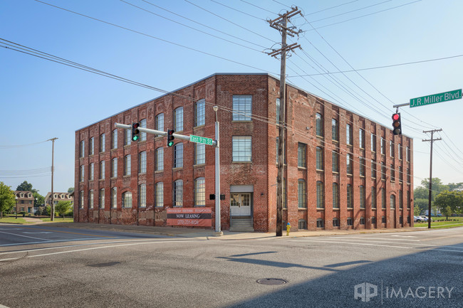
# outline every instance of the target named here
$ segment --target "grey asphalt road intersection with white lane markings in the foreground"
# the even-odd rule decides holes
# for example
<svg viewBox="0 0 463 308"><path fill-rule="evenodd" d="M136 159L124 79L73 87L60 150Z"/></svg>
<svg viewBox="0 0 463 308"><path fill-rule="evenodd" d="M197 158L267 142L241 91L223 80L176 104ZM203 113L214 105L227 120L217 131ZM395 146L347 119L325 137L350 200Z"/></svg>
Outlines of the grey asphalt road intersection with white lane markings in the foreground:
<svg viewBox="0 0 463 308"><path fill-rule="evenodd" d="M463 307L463 228L223 240L0 225L0 277L0 307Z"/></svg>

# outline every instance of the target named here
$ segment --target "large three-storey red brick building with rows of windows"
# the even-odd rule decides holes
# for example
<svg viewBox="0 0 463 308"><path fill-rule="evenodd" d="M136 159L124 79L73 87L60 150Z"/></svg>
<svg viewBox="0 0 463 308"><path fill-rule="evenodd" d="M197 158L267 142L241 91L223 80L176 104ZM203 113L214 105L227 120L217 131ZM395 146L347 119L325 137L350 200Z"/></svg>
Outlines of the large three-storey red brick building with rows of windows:
<svg viewBox="0 0 463 308"><path fill-rule="evenodd" d="M74 220L165 225L166 208L212 208L214 147L115 123L214 139L219 106L223 230L274 231L279 80L214 74L76 131ZM286 87L283 221L291 230L413 225L413 144L297 87ZM246 228L246 223L247 228ZM213 227L214 228L214 227Z"/></svg>

